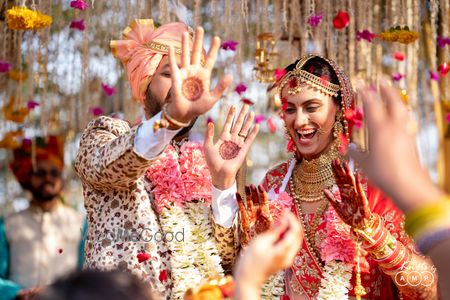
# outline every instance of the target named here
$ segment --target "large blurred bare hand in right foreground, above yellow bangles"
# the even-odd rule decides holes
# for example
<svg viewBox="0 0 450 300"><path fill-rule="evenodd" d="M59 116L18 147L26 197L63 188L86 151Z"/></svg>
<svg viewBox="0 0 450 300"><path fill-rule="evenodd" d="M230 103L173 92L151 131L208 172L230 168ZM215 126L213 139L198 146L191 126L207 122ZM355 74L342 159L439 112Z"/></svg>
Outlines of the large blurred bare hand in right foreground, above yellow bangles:
<svg viewBox="0 0 450 300"><path fill-rule="evenodd" d="M364 103L369 152L349 147L349 155L369 179L405 211L442 197L420 165L414 123L399 90L383 81L380 94L368 86L359 86L357 96Z"/></svg>

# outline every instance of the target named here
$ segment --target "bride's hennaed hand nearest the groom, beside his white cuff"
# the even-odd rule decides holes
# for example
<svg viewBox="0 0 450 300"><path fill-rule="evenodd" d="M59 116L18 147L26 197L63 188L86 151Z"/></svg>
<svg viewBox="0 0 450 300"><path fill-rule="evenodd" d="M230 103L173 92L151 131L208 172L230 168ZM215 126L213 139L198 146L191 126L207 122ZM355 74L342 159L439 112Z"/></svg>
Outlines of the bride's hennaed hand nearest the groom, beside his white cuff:
<svg viewBox="0 0 450 300"><path fill-rule="evenodd" d="M261 186L245 186L247 207L239 193L236 197L239 205L239 241L241 246L246 246L256 235L272 227L273 218L267 193Z"/></svg>

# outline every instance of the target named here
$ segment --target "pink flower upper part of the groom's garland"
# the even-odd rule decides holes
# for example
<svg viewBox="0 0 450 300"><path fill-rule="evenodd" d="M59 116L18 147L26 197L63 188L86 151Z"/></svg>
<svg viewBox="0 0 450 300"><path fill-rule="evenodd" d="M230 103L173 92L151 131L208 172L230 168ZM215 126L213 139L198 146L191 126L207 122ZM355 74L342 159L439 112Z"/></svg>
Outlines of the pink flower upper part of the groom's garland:
<svg viewBox="0 0 450 300"><path fill-rule="evenodd" d="M148 169L147 178L154 184L158 213L172 204L182 207L192 200L211 202L211 175L200 144L184 143L180 155L167 146Z"/></svg>

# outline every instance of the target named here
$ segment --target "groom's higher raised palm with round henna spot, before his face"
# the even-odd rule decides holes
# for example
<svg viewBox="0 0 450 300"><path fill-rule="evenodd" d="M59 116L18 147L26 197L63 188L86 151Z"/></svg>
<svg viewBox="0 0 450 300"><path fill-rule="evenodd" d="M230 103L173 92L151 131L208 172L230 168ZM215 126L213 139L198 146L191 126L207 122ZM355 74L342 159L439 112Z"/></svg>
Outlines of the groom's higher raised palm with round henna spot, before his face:
<svg viewBox="0 0 450 300"><path fill-rule="evenodd" d="M209 111L232 81L232 77L227 75L211 90L211 72L219 51L220 38L213 38L206 60L202 64L203 35L203 28L197 27L191 54L189 33L183 33L181 68L178 68L174 48L169 47L172 90L167 111L171 117L183 123L188 123Z"/></svg>

